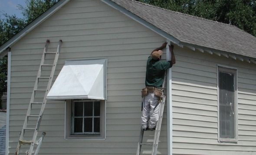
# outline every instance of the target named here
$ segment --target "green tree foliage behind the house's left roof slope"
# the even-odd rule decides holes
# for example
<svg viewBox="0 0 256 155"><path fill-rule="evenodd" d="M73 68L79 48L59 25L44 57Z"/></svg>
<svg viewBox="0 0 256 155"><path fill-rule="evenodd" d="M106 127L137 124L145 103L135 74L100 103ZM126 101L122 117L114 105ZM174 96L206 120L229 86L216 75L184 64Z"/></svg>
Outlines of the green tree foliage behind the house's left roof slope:
<svg viewBox="0 0 256 155"><path fill-rule="evenodd" d="M26 6L18 5L24 18L3 14L0 19L0 46L16 35L26 25L53 6L58 0L26 0ZM7 56L0 58L0 108L3 92L7 91Z"/></svg>

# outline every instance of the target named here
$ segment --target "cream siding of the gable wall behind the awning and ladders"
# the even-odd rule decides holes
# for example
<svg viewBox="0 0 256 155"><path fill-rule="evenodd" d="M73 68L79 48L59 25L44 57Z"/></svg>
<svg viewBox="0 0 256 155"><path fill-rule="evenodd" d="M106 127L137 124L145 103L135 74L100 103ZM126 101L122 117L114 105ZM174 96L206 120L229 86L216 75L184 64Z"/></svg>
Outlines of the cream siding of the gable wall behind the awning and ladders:
<svg viewBox="0 0 256 155"><path fill-rule="evenodd" d="M63 41L54 79L66 60L108 59L106 139L65 140L65 103L48 101L38 134L46 132L40 154L135 154L145 64L152 49L166 39L100 0L70 1L11 47L10 154L17 146L46 39L51 41L48 51L55 51L59 39ZM42 74L46 75L46 71ZM38 111L39 107L34 109ZM162 134L159 151L166 152L166 129ZM152 141L149 134L145 139Z"/></svg>

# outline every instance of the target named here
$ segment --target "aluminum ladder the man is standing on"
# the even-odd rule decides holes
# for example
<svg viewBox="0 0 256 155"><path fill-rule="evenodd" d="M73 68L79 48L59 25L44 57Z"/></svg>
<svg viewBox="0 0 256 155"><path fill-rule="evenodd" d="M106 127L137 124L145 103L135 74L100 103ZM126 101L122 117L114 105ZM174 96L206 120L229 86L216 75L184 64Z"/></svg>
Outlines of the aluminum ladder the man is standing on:
<svg viewBox="0 0 256 155"><path fill-rule="evenodd" d="M149 145L152 146L152 153L151 155L156 155L158 151L158 142L159 142L159 136L160 136L160 131L161 131L161 125L162 125L162 119L163 119L163 114L164 114L164 104L165 104L165 95L164 95L164 87L165 87L165 80L166 80L166 75L167 73L165 72L164 75L164 83L163 83L163 94L162 97L160 98L160 107L159 107L159 119L156 124L155 132L154 132L154 141L153 143L143 143L143 136L144 136L144 131L141 128L141 133L139 137L139 142L138 142L138 148L137 148L137 153L136 155L141 155L141 146L142 145Z"/></svg>

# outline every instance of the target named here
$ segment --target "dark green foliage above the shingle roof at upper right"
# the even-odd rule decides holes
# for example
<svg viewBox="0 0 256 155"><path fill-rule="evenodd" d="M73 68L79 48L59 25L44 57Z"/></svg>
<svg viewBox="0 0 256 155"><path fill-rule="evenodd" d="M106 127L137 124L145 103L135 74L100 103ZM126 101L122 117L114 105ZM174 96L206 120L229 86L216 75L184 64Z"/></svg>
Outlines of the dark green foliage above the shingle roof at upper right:
<svg viewBox="0 0 256 155"><path fill-rule="evenodd" d="M154 6L235 25L256 36L255 0L139 0Z"/></svg>

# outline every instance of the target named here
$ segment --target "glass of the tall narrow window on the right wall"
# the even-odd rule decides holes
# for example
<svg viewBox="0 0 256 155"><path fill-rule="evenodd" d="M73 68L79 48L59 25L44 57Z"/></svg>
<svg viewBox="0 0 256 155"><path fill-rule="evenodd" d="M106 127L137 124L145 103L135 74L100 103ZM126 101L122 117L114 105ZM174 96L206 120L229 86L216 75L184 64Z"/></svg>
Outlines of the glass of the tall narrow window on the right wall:
<svg viewBox="0 0 256 155"><path fill-rule="evenodd" d="M234 74L219 72L220 138L235 138Z"/></svg>

